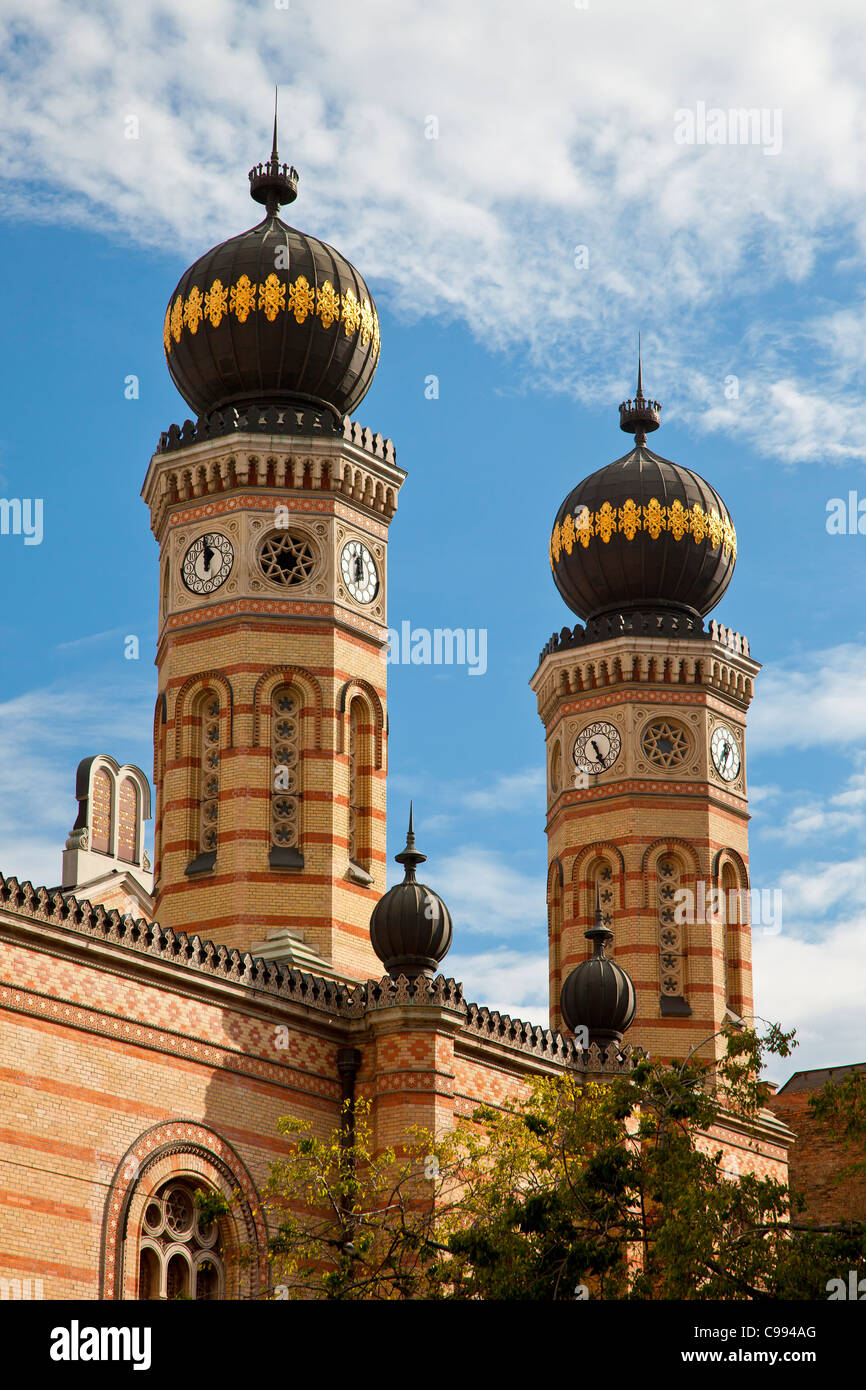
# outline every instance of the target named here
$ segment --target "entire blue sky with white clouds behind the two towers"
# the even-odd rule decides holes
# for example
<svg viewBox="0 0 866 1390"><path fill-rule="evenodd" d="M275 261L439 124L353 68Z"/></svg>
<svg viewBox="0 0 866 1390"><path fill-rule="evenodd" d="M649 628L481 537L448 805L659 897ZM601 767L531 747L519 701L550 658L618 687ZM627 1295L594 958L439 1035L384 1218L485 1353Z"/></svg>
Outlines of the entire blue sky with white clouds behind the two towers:
<svg viewBox="0 0 866 1390"><path fill-rule="evenodd" d="M716 616L765 664L752 876L783 890L784 916L755 937L758 1008L798 1027L796 1068L860 1061L866 535L826 520L828 499L866 499L865 46L855 4L801 0L669 0L652 22L595 0L6 0L0 495L42 498L44 535L0 537L0 867L57 881L82 756L150 771L157 567L139 489L188 413L163 316L190 260L257 220L246 171L279 82L291 220L359 265L382 321L357 418L409 473L389 620L488 632L484 676L389 669L389 853L414 796L455 917L445 967L545 1022L527 682L574 621L549 530L628 446L616 407L641 328L664 406L653 443L737 525ZM781 149L678 145L676 113L698 103L781 113Z"/></svg>

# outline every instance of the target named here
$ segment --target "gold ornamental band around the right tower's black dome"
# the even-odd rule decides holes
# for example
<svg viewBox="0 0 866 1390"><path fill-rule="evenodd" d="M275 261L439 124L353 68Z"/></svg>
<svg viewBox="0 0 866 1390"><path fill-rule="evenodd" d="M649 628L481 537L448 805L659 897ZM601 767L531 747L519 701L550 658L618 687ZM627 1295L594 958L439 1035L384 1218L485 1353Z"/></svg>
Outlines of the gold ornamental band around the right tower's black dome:
<svg viewBox="0 0 866 1390"><path fill-rule="evenodd" d="M657 541L662 531L669 531L674 541L691 535L695 545L706 541L710 549L719 546L726 555L737 559L737 532L730 517L720 517L716 509L705 512L695 502L691 507L684 507L681 502L671 502L662 506L656 498L651 498L645 506L628 498L621 507L613 507L609 502L602 502L598 512L589 507L580 507L577 516L569 513L553 527L550 537L550 569L559 560L562 552L571 555L575 545L584 549L594 535L607 543L610 537L619 531L627 541L634 541L638 531L646 531L653 541Z"/></svg>

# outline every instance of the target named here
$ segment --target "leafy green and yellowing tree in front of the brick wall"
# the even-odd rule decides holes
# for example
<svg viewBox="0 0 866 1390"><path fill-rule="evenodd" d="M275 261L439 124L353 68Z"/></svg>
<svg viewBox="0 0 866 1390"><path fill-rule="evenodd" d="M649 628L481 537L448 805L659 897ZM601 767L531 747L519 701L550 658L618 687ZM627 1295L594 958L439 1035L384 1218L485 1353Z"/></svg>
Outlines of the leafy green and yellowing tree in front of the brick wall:
<svg viewBox="0 0 866 1390"><path fill-rule="evenodd" d="M709 1040L708 1040L709 1041ZM724 1170L709 1131L767 1098L766 1054L792 1034L727 1037L720 1062L638 1059L587 1084L537 1080L445 1138L375 1154L368 1106L295 1138L267 1205L274 1282L327 1298L816 1298L866 1257L866 1229L795 1230L785 1184Z"/></svg>

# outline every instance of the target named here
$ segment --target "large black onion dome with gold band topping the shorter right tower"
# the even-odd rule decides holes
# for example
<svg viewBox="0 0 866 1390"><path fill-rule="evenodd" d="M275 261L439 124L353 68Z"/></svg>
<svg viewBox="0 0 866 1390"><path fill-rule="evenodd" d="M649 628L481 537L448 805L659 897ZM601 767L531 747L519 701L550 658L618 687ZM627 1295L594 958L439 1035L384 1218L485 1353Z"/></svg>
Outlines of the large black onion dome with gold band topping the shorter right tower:
<svg viewBox="0 0 866 1390"><path fill-rule="evenodd" d="M620 406L634 449L578 482L556 514L553 580L584 620L635 609L703 617L731 582L731 514L702 477L646 448L660 416L638 359L637 396Z"/></svg>

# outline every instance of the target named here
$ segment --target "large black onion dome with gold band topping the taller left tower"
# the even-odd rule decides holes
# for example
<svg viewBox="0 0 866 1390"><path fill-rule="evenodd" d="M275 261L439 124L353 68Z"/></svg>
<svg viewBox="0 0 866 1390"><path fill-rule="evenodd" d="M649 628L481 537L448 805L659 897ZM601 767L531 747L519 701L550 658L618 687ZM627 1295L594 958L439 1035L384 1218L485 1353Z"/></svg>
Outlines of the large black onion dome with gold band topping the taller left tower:
<svg viewBox="0 0 866 1390"><path fill-rule="evenodd" d="M271 158L249 177L263 221L202 256L168 302L171 379L197 416L327 406L342 418L375 373L373 296L345 256L278 215L297 196L297 170L279 163L275 117Z"/></svg>

